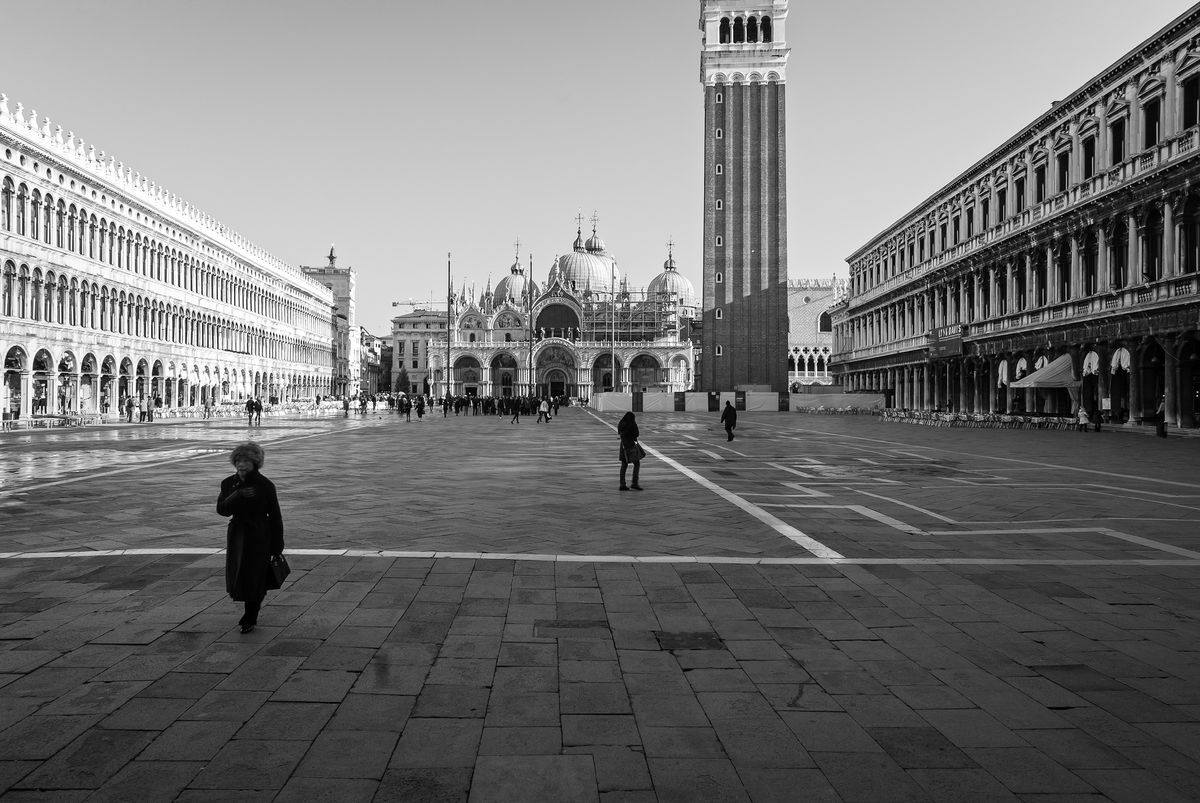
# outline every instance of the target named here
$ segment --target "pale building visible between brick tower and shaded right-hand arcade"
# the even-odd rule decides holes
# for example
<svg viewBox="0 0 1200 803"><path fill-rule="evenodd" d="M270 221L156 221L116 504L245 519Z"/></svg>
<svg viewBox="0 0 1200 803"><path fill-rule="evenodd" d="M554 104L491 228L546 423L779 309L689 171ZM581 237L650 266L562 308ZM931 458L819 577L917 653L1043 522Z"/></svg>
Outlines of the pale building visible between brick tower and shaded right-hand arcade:
<svg viewBox="0 0 1200 803"><path fill-rule="evenodd" d="M833 384L833 317L846 295L845 280L798 278L787 283L787 385Z"/></svg>

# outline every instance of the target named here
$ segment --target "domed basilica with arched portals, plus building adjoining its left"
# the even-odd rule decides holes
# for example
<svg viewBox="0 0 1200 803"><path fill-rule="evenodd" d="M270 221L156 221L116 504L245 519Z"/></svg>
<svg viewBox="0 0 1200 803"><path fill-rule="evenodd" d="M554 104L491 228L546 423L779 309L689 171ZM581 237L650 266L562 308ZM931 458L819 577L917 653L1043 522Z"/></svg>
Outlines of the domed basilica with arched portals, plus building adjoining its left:
<svg viewBox="0 0 1200 803"><path fill-rule="evenodd" d="M392 320L396 359L409 360L419 391L590 397L692 389L695 290L671 253L644 289L634 289L595 230L584 241L580 229L544 286L526 276L517 254L494 288L488 281L478 295L460 288L451 298L449 343L436 334L445 312Z"/></svg>

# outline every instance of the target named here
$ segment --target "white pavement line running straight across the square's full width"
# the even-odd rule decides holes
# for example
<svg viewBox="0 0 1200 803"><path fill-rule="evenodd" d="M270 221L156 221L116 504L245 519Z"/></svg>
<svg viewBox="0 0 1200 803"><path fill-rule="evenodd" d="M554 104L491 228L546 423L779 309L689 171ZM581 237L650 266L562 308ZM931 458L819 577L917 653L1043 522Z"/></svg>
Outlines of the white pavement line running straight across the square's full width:
<svg viewBox="0 0 1200 803"><path fill-rule="evenodd" d="M1099 532L1099 531L1090 531ZM1124 535L1123 533L1121 535ZM194 555L197 557L222 555L215 549L164 549L164 550L89 550L64 552L0 552L0 561L32 561L46 558L109 558L138 556ZM1181 550L1180 552L1187 552ZM398 550L288 550L287 555L331 558L410 558L422 561L527 561L541 563L656 563L656 564L740 564L740 565L995 565L995 567L1195 567L1200 559L1154 558L752 558L737 556L676 556L676 555L546 555L520 552L407 552ZM1196 558L1200 553L1192 552Z"/></svg>

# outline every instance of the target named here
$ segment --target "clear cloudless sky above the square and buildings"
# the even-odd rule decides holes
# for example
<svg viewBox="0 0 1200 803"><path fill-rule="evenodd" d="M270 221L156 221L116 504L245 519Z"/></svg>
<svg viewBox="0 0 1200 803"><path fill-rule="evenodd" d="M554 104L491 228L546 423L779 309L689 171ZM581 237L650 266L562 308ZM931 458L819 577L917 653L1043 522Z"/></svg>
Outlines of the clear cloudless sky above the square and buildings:
<svg viewBox="0 0 1200 803"><path fill-rule="evenodd" d="M792 0L788 275L845 258L1171 19L1182 0ZM358 271L390 331L534 278L598 212L644 286L700 289L698 0L6 2L0 92L293 265ZM584 228L590 228L586 222Z"/></svg>

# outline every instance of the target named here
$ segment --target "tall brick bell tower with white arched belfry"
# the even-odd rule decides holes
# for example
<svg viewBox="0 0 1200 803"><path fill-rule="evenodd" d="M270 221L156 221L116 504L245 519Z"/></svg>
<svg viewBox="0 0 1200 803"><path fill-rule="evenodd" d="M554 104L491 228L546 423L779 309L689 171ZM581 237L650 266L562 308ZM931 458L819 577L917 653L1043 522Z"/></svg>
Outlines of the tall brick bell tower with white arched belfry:
<svg viewBox="0 0 1200 803"><path fill-rule="evenodd" d="M701 0L704 390L787 390L787 0Z"/></svg>

